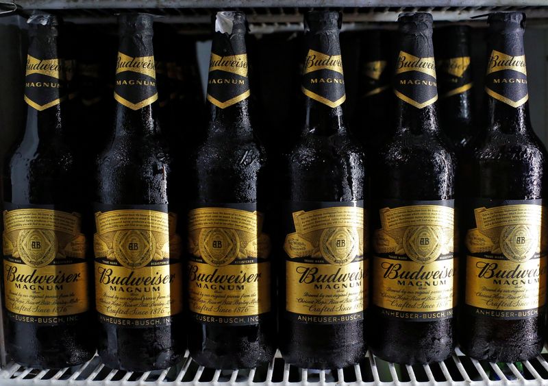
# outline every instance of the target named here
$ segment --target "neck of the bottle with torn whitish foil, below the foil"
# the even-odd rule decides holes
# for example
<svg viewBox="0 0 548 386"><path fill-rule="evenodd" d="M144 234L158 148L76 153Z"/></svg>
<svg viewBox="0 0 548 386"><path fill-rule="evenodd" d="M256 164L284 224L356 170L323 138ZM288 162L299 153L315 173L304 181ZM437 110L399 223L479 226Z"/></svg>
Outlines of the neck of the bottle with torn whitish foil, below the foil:
<svg viewBox="0 0 548 386"><path fill-rule="evenodd" d="M208 76L208 134L253 134L245 33L215 32Z"/></svg>

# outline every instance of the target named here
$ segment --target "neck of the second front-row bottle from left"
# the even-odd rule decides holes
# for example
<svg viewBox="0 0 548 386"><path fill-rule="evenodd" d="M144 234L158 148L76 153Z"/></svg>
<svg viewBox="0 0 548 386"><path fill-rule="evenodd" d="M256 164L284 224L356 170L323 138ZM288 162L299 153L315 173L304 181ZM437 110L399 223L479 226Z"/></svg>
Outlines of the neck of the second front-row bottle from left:
<svg viewBox="0 0 548 386"><path fill-rule="evenodd" d="M151 32L121 34L114 84L115 136L147 136L160 131L158 89Z"/></svg>

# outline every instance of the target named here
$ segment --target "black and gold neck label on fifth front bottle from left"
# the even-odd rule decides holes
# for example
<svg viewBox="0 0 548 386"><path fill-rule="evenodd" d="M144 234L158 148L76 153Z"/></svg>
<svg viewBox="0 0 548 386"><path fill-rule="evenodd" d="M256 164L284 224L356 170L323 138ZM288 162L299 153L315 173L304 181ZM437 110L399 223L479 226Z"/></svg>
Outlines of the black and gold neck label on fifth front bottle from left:
<svg viewBox="0 0 548 386"><path fill-rule="evenodd" d="M416 108L425 108L438 100L434 57L422 58L399 51L394 77L394 93Z"/></svg>

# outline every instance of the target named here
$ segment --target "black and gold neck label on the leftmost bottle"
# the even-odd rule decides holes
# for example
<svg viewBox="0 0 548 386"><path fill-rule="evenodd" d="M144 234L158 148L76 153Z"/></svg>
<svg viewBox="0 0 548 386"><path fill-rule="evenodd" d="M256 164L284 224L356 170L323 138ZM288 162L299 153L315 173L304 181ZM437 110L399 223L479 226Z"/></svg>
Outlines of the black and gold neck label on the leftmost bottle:
<svg viewBox="0 0 548 386"><path fill-rule="evenodd" d="M66 98L63 62L59 58L44 58L40 52L27 55L25 73L25 102L38 111L60 104Z"/></svg>

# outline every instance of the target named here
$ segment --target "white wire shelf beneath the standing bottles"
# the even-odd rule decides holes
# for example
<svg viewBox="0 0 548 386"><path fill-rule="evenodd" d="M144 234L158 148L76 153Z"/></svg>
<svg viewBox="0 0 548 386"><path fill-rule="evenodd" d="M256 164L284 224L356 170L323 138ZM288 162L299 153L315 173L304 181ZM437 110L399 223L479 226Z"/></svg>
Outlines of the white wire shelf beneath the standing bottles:
<svg viewBox="0 0 548 386"><path fill-rule="evenodd" d="M544 352L547 352L546 350ZM496 364L465 357L457 350L446 361L431 365L397 365L371 356L362 363L336 370L304 370L284 363L279 352L269 365L249 370L212 370L197 365L186 354L179 365L156 372L112 370L99 357L79 367L36 370L16 363L0 372L0 385L183 385L183 386L366 386L366 385L548 385L547 354L532 361Z"/></svg>

